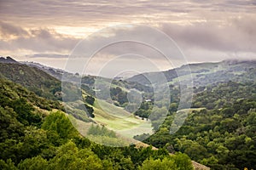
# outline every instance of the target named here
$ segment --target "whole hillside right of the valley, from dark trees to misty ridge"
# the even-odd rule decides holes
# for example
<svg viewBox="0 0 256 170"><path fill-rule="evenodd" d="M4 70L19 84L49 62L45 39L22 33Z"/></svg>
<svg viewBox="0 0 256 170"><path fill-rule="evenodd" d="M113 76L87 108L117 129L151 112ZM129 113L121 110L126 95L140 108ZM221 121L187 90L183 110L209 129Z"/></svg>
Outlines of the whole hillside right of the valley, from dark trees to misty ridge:
<svg viewBox="0 0 256 170"><path fill-rule="evenodd" d="M175 70L162 72L167 75L172 94L169 116L156 133L143 141L166 147L172 153L182 151L211 169L255 169L256 61L226 60L189 66L194 96L183 126L177 133L170 134L171 125L174 123L175 127L179 120L174 122L174 118L183 111L177 111L177 107L179 81L185 81L188 75L185 66L177 68L180 77ZM160 86L159 74L146 73L156 87ZM143 75L127 79L148 84L145 80ZM145 118L148 113L150 107L145 106L136 112ZM141 139L141 136L136 136L136 139Z"/></svg>

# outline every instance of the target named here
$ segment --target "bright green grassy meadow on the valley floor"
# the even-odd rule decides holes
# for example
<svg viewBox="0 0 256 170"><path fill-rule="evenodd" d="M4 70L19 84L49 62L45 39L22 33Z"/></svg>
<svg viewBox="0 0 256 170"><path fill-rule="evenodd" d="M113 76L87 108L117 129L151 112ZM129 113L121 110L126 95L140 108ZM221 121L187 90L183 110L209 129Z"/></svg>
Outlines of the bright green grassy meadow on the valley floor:
<svg viewBox="0 0 256 170"><path fill-rule="evenodd" d="M102 109L103 108L103 109ZM95 118L92 120L98 125L107 127L109 130L113 130L118 135L118 139L122 140L121 145L136 144L137 140L133 139L133 136L143 133L152 133L151 122L147 122L140 118L137 118L123 108L109 104L104 100L96 99L93 105ZM83 122L69 116L73 126L76 127L83 136L90 137L87 132L93 122ZM93 141L100 144L116 144L114 141L117 139L98 139L98 137L91 137ZM108 141L109 140L109 141Z"/></svg>

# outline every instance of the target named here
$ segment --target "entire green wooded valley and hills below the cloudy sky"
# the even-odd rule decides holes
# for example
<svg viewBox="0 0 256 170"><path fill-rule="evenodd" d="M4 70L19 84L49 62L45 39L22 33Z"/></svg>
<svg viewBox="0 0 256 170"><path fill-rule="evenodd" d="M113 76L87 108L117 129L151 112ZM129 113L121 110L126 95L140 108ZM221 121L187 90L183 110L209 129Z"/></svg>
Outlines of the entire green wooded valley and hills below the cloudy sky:
<svg viewBox="0 0 256 170"><path fill-rule="evenodd" d="M161 84L157 80L148 84L142 75L112 81L68 73L73 81L61 91L63 72L55 78L42 69L8 60L0 63L0 169L193 169L190 159L211 169L256 169L255 61L190 65L194 86L189 108L179 108L181 88L187 88L180 87L179 81L185 81L189 72L183 66L177 68L183 71L181 77L175 70L165 71L171 92L166 110L165 99L154 99L154 88ZM160 73L147 74L158 77ZM102 89L110 88L109 94L96 95L101 91L96 81ZM81 99L73 95L78 91ZM131 103L132 93L142 100ZM63 102L63 96L70 99ZM156 119L150 117L154 105ZM157 115L164 111L168 115L160 123ZM174 118L184 111L189 115L183 126L171 134ZM119 146L122 141L116 132L138 133L133 127L148 119L154 134L133 138L160 150L96 144ZM76 123L79 128L74 127Z"/></svg>

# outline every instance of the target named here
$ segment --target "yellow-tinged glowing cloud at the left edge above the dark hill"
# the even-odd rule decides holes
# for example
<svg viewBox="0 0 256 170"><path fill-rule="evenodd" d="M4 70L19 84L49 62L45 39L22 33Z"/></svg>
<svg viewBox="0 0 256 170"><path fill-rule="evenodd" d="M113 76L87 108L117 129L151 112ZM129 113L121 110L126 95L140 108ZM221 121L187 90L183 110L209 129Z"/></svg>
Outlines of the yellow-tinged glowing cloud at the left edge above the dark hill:
<svg viewBox="0 0 256 170"><path fill-rule="evenodd" d="M74 37L63 36L55 30L49 28L38 28L24 30L20 26L14 26L7 23L1 23L1 35L3 35L0 44L2 50L15 51L30 50L35 53L45 52L69 52L79 42ZM8 39L8 37L15 36Z"/></svg>

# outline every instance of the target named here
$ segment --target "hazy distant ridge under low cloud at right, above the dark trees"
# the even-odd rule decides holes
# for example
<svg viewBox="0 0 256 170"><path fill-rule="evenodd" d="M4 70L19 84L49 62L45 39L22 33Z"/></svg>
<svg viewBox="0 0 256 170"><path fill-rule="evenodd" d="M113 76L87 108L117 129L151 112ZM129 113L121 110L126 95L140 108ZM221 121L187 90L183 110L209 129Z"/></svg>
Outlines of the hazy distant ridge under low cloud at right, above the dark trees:
<svg viewBox="0 0 256 170"><path fill-rule="evenodd" d="M189 67L183 65L169 71L143 73L130 77L127 81L150 84L146 79L148 77L152 82L157 83L160 82L158 80L159 75L164 74L167 82L174 83L183 80L183 78L191 74L194 86L199 87L218 82L242 81L241 75L255 67L256 60L224 60L218 63L189 64ZM179 77L177 77L177 72Z"/></svg>

